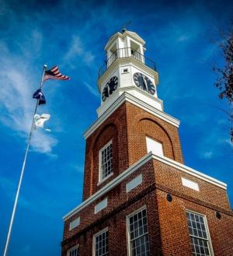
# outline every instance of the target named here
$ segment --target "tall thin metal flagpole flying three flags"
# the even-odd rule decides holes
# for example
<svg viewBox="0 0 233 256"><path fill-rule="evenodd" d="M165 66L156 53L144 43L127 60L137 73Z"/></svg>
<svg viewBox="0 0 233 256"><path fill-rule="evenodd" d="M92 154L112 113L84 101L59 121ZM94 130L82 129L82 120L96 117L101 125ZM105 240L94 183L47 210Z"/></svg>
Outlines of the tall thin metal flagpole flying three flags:
<svg viewBox="0 0 233 256"><path fill-rule="evenodd" d="M43 86L43 76L44 76L44 72L46 71L46 68L47 68L47 65L43 65L43 75L42 75L42 79L41 79L41 82L40 82L40 89ZM13 207L13 211L12 211L12 218L11 218L11 221L10 221L10 224L9 224L9 231L8 231L8 234L7 234L7 239L6 239L6 243L5 243L5 250L4 250L3 256L6 256L7 251L8 251L8 247L9 247L9 240L10 240L10 237L11 237L12 225L13 225L15 214L16 214L16 207L17 207L17 204L18 204L19 191L20 191L20 188L21 188L22 180L23 180L23 173L24 173L24 169L25 169L26 158L27 158L27 154L28 154L28 151L29 151L29 148L30 148L30 142L31 142L32 134L33 134L34 116L35 116L35 114L37 114L38 104L39 104L39 99L37 99L37 104L36 104L35 111L34 111L34 114L33 114L33 122L32 122L30 135L28 137L28 142L27 142L27 146L26 146L26 153L25 153L24 160L23 160L23 167L22 167L21 174L20 174L20 177L19 177L19 184L18 184L18 188L17 188L17 192L16 192L16 199L15 199L15 202L14 202L14 207Z"/></svg>

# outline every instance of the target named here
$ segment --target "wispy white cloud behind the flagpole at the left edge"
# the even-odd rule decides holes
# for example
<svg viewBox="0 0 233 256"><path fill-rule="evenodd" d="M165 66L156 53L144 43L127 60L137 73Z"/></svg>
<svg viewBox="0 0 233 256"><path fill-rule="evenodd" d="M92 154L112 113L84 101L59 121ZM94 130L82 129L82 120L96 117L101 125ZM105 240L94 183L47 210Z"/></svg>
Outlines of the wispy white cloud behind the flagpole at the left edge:
<svg viewBox="0 0 233 256"><path fill-rule="evenodd" d="M38 36L38 34L36 35ZM30 131L35 100L32 99L32 84L35 77L31 75L29 65L16 56L9 54L8 47L2 43L2 58L0 60L0 121L8 128L26 138ZM33 137L33 149L40 153L51 153L57 144L57 139L51 135L37 132Z"/></svg>

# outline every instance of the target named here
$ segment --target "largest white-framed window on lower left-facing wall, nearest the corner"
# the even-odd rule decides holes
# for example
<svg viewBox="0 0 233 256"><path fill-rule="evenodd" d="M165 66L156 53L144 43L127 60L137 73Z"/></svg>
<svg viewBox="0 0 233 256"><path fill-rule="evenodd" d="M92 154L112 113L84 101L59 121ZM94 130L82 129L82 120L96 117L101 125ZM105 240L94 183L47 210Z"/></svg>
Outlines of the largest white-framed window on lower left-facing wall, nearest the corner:
<svg viewBox="0 0 233 256"><path fill-rule="evenodd" d="M148 219L145 208L127 216L127 234L130 256L148 256Z"/></svg>

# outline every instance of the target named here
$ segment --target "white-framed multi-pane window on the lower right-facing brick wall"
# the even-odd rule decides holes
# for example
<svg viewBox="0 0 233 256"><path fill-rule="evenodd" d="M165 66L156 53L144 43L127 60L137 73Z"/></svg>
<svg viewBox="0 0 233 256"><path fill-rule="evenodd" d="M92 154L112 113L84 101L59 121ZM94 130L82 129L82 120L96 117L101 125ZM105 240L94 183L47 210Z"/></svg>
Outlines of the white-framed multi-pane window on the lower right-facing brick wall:
<svg viewBox="0 0 233 256"><path fill-rule="evenodd" d="M193 256L213 255L205 216L196 212L186 212L186 218L190 232L190 244Z"/></svg>

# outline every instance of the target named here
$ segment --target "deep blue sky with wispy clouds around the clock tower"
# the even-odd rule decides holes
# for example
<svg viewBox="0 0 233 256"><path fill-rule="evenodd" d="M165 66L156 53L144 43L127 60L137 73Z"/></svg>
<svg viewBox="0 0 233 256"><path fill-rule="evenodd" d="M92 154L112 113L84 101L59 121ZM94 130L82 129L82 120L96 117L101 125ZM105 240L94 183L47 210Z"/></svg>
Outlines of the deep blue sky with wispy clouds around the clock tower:
<svg viewBox="0 0 233 256"><path fill-rule="evenodd" d="M109 37L128 30L147 42L159 72L158 96L179 128L187 166L228 183L233 204L233 147L227 103L218 100L211 71L221 54L212 43L232 18L227 1L78 2L1 0L0 7L0 251L26 149L43 64L71 81L47 81L52 132L37 130L23 179L9 256L60 255L62 216L82 201L85 139L100 103L98 69Z"/></svg>

